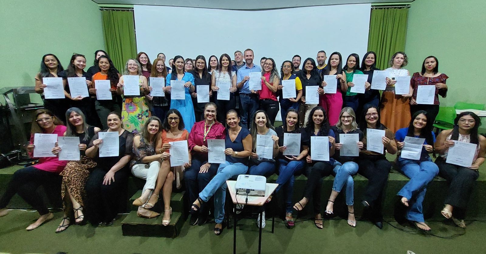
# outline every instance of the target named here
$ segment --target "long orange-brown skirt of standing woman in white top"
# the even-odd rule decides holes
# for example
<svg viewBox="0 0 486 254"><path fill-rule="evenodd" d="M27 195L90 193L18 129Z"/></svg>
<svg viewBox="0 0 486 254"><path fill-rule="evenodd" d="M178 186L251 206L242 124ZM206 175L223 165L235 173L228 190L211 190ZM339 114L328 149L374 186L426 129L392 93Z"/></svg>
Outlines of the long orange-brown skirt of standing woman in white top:
<svg viewBox="0 0 486 254"><path fill-rule="evenodd" d="M394 133L410 124L410 99L384 91L380 105L380 122Z"/></svg>

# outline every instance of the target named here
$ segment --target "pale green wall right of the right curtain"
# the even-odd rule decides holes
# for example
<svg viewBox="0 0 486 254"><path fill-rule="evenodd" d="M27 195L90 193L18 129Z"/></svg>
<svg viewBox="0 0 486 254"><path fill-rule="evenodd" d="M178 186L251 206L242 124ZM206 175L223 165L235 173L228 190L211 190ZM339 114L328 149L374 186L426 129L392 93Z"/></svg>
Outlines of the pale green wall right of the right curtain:
<svg viewBox="0 0 486 254"><path fill-rule="evenodd" d="M457 101L485 103L483 66L486 59L486 0L415 0L408 14L405 52L410 73L420 71L425 57L439 60L447 74L447 97L441 105Z"/></svg>

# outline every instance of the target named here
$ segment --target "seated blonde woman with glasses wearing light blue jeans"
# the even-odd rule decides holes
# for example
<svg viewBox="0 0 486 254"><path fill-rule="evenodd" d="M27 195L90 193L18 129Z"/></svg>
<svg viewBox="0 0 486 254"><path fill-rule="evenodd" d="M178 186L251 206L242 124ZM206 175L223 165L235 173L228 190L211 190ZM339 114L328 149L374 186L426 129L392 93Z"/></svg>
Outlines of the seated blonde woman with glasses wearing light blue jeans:
<svg viewBox="0 0 486 254"><path fill-rule="evenodd" d="M358 128L356 124L356 115L353 109L347 107L341 110L339 114L339 120L337 124L331 127L332 131L336 135L334 140L335 152L332 158L334 159L334 183L332 184L332 191L328 199L328 204L326 206L326 211L324 215L330 217L334 214L334 201L337 195L346 188L346 205L347 205L347 224L356 227L356 219L354 217L354 180L353 175L358 172L358 164L354 162L357 157L343 156L341 155L343 151L344 141L340 140L341 134L355 134L358 135L358 142L356 146L361 149L363 148L363 132Z"/></svg>

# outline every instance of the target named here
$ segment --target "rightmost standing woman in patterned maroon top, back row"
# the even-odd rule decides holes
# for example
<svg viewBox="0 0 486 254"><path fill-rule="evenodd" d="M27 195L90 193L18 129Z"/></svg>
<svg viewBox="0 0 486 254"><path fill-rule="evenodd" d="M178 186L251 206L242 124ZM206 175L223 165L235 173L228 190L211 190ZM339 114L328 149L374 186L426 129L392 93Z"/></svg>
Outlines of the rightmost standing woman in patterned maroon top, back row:
<svg viewBox="0 0 486 254"><path fill-rule="evenodd" d="M414 73L410 79L410 85L414 90L412 98L410 98L410 113L414 114L419 110L427 111L430 116L430 121L434 123L435 117L439 113L439 95L442 98L447 96L446 80L449 79L447 75L439 72L439 60L434 56L428 56L422 63L422 70ZM417 104L417 91L420 85L434 85L434 104Z"/></svg>

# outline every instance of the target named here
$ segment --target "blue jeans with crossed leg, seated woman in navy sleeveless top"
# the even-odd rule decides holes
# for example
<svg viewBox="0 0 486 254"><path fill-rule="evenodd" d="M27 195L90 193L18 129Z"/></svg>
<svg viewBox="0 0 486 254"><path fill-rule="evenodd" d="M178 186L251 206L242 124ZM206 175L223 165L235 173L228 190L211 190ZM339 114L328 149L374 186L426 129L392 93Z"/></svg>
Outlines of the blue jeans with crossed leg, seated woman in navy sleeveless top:
<svg viewBox="0 0 486 254"><path fill-rule="evenodd" d="M206 188L199 193L199 197L208 202L214 195L214 221L221 223L225 219L225 200L226 200L226 180L235 175L245 174L248 166L243 163L231 163L226 161L219 164L218 172L209 181Z"/></svg>

